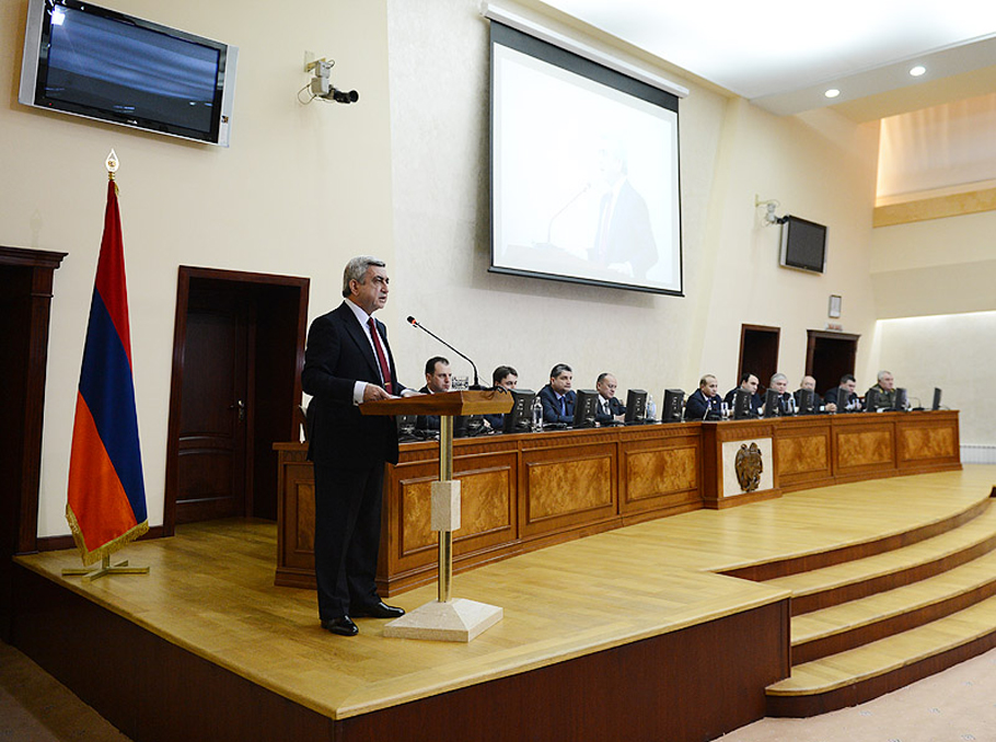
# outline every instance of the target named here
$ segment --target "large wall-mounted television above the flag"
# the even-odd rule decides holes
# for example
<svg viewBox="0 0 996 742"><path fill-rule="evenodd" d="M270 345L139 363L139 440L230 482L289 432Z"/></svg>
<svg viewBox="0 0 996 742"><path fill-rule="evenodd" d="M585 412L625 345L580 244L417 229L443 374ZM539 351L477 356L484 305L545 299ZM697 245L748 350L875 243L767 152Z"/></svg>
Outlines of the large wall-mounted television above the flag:
<svg viewBox="0 0 996 742"><path fill-rule="evenodd" d="M77 0L30 0L18 101L228 147L239 49Z"/></svg>

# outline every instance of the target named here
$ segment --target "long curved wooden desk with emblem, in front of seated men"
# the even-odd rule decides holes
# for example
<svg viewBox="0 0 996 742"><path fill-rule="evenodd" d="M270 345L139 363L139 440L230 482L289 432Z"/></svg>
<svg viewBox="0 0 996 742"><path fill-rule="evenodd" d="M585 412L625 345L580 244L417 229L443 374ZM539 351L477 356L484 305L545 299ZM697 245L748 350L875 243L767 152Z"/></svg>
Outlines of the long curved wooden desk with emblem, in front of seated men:
<svg viewBox="0 0 996 742"><path fill-rule="evenodd" d="M756 486L737 457L760 454ZM277 443L276 584L314 588L314 479L303 443ZM750 454L756 466L758 454ZM393 595L436 579L430 483L438 444L404 443L387 466L378 584ZM653 518L785 491L961 467L958 411L682 422L456 440L462 527L454 571ZM743 456L741 456L743 457ZM744 468L741 466L741 468ZM750 468L750 467L748 467ZM742 475L740 475L742 476ZM752 488L753 487L753 488Z"/></svg>

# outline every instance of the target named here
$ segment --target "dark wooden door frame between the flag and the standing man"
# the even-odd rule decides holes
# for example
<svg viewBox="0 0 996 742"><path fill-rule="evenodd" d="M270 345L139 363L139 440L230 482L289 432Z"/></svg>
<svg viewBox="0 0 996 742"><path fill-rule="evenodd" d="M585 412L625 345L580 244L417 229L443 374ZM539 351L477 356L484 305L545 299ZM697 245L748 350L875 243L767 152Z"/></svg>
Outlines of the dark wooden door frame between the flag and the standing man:
<svg viewBox="0 0 996 742"><path fill-rule="evenodd" d="M176 316L173 325L173 371L170 382L170 413L169 426L166 433L166 476L163 497L163 535L172 536L176 529L176 492L178 488L178 462L179 462L179 427L181 410L183 409L183 372L184 372L184 349L186 347L187 334L187 313L190 297L190 282L221 282L245 291L246 295L256 302L257 315L259 309L266 306L267 316L273 317L275 313L278 321L282 321L283 327L294 334L294 360L292 368L282 368L274 353L255 353L255 367L251 373L255 372L260 366L266 367L268 372L264 374L270 382L267 386L267 394L273 395L275 390L283 390L288 399L285 405L286 411L280 409L275 416L275 427L277 440L296 440L298 436L297 407L301 404L301 371L304 368L304 338L306 335L308 324L308 293L310 279L297 276L279 276L273 274L256 274L240 270L223 270L219 268L201 268L196 266L179 266L177 269L176 285ZM288 291L294 295L294 301L280 302L273 301L275 291L286 294ZM269 366L267 366L269 364ZM259 374L257 373L257 376ZM254 393L254 397L255 397ZM255 407L256 405L253 404ZM260 450L259 445L247 447L246 455L253 460L251 464L254 471L268 472L273 469L274 482L270 486L276 490L276 465L259 466L258 460L264 456L273 456L273 451ZM246 487L246 497L253 497Z"/></svg>

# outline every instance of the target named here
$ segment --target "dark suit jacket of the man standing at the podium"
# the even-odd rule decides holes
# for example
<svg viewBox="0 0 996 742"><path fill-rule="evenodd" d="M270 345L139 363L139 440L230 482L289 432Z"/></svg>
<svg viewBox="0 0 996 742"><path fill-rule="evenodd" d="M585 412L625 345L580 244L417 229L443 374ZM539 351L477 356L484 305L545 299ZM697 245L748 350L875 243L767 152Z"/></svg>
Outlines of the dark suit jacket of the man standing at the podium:
<svg viewBox="0 0 996 742"><path fill-rule="evenodd" d="M394 394L405 389L397 381L387 345L387 328L377 322ZM308 407L311 428L308 457L326 466L366 468L385 461L397 463L397 426L391 415L364 416L352 404L357 381L381 384L367 331L344 301L311 323L304 351L301 386L312 395Z"/></svg>

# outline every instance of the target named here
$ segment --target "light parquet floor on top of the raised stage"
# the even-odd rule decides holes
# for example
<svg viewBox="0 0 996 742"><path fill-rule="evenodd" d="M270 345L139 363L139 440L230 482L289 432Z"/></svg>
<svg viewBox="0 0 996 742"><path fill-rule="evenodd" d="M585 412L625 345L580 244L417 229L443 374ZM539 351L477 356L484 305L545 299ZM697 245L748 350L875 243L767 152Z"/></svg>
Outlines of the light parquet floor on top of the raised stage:
<svg viewBox="0 0 996 742"><path fill-rule="evenodd" d="M314 594L275 588L276 526L221 521L177 529L119 556L146 577L63 581L74 552L19 561L264 687L346 718L502 677L781 600L784 588L713 573L815 553L945 520L985 499L996 467L879 479L740 508L640 523L488 565L454 596L505 610L470 645L385 639L359 619L351 639L323 631ZM414 608L436 588L392 599Z"/></svg>

